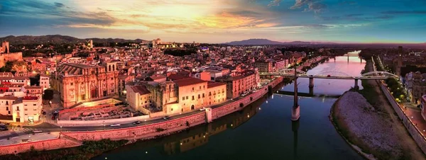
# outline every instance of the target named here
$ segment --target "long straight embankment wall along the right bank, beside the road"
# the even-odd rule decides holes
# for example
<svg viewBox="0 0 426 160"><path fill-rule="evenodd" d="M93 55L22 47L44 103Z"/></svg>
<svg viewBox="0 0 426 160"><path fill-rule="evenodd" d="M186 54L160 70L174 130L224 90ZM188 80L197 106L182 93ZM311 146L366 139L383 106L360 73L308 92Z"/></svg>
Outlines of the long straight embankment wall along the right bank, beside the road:
<svg viewBox="0 0 426 160"><path fill-rule="evenodd" d="M381 87L381 90L385 94L386 98L388 98L388 101L391 103L393 110L395 110L396 114L398 114L400 120L403 121L405 128L407 128L408 132L410 132L411 137L413 137L414 141L417 143L420 149L422 149L422 152L426 154L426 139L422 136L422 132L417 130L413 123L410 122L410 119L403 113L403 110L399 107L398 103L396 103L395 99L393 99L386 86L384 86L381 81L377 80L376 82Z"/></svg>

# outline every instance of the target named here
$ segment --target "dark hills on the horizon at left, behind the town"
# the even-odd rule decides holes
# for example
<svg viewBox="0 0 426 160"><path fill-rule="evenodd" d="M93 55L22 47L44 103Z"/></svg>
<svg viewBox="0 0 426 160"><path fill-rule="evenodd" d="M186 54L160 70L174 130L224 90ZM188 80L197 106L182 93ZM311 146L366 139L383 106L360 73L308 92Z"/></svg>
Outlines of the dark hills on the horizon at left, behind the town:
<svg viewBox="0 0 426 160"><path fill-rule="evenodd" d="M78 42L87 42L88 40L93 40L93 42L147 42L146 40L136 39L136 40L125 40L121 38L75 38L67 35L20 35L13 36L9 35L4 38L0 38L0 41L4 40L9 41L11 45L21 45L21 44L40 44L40 43L78 43Z"/></svg>

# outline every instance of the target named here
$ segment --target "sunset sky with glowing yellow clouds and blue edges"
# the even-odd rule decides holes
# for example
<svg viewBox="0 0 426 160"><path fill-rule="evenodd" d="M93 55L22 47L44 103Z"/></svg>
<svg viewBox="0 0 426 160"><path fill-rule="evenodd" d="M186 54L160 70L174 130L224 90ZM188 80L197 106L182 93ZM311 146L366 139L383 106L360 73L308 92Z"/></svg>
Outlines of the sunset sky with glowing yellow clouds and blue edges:
<svg viewBox="0 0 426 160"><path fill-rule="evenodd" d="M1 0L0 37L426 42L426 0Z"/></svg>

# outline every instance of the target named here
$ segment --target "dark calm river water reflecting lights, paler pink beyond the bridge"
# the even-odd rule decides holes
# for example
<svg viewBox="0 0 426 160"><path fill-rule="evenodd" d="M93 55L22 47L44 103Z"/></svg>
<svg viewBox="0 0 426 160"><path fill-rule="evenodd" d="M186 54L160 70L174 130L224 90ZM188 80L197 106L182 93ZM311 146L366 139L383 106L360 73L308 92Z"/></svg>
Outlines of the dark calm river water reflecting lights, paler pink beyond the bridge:
<svg viewBox="0 0 426 160"><path fill-rule="evenodd" d="M358 57L349 57L349 62L337 57L307 73L357 76L364 66ZM297 82L299 92L309 92L308 79ZM327 96L341 95L352 86L354 80L315 79L317 96L300 97L298 122L290 120L293 96L273 94L210 124L129 144L94 159L363 159L328 118L337 98ZM293 84L281 90L293 91Z"/></svg>

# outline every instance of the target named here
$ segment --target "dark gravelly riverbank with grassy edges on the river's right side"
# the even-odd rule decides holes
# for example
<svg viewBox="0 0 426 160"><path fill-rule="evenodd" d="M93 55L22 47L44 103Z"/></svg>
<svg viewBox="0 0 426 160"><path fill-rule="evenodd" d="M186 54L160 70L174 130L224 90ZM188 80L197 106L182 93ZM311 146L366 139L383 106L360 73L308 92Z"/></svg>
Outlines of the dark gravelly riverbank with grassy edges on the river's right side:
<svg viewBox="0 0 426 160"><path fill-rule="evenodd" d="M365 70L370 69L367 62ZM340 135L367 159L426 159L376 81L362 81L362 86L361 91L347 91L332 106L330 120Z"/></svg>

